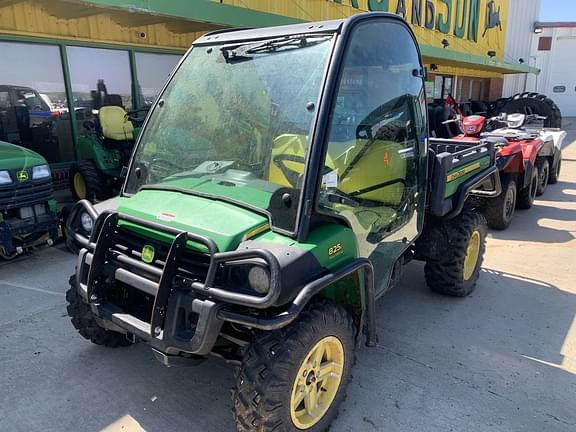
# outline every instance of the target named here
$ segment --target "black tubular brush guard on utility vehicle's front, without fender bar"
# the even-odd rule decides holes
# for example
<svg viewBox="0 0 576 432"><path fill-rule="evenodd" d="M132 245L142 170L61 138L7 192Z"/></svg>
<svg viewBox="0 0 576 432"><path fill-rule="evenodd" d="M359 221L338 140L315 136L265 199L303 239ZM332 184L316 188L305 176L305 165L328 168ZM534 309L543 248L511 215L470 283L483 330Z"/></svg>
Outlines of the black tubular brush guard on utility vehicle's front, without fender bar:
<svg viewBox="0 0 576 432"><path fill-rule="evenodd" d="M126 249L118 247L123 238L119 222L173 236L167 255L161 261L145 263L130 253L122 253ZM203 259L208 259L207 269L195 279L183 277L180 270L189 262L185 261L188 242L202 245L207 250L202 255ZM219 317L219 312L225 306L266 309L276 302L280 294L279 265L268 251L221 253L210 239L143 219L120 216L116 212L99 215L90 240L83 243L85 247L79 253L77 264L78 290L90 304L99 324L145 340L166 355L207 355L220 333L224 320ZM195 253L195 256L199 255ZM233 292L217 286L217 271L222 264L250 260L264 262L270 271L267 294ZM143 314L136 316L124 310L113 300L115 292L122 287L152 299L146 318Z"/></svg>

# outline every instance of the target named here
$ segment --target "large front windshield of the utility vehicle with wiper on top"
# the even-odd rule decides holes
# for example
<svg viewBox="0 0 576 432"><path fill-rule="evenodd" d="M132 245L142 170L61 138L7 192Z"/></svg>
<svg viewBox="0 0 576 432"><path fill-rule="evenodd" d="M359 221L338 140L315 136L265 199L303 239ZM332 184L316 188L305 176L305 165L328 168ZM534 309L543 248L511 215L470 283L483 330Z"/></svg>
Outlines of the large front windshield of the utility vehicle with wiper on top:
<svg viewBox="0 0 576 432"><path fill-rule="evenodd" d="M245 204L293 231L332 37L194 47L151 114L125 192Z"/></svg>

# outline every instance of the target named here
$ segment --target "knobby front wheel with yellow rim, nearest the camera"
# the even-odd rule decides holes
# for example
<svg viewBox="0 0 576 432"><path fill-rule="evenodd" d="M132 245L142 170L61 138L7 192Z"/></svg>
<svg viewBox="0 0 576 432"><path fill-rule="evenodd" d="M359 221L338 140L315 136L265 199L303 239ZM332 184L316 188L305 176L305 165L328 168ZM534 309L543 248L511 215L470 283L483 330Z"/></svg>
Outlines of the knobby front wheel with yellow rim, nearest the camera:
<svg viewBox="0 0 576 432"><path fill-rule="evenodd" d="M327 430L345 398L355 335L352 315L327 300L313 302L287 327L255 334L232 396L237 430Z"/></svg>

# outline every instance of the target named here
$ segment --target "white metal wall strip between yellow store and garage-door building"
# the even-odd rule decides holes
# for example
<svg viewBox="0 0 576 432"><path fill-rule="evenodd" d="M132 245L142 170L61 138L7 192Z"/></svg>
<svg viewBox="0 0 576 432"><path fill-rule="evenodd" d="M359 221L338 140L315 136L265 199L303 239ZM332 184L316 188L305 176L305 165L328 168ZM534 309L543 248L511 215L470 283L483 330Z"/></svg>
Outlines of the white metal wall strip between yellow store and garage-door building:
<svg viewBox="0 0 576 432"><path fill-rule="evenodd" d="M531 58L534 43L534 23L540 16L540 0L510 0L508 30L506 34L506 61L518 63L524 59L526 64L535 66ZM504 78L503 97L526 91L527 76L509 75Z"/></svg>

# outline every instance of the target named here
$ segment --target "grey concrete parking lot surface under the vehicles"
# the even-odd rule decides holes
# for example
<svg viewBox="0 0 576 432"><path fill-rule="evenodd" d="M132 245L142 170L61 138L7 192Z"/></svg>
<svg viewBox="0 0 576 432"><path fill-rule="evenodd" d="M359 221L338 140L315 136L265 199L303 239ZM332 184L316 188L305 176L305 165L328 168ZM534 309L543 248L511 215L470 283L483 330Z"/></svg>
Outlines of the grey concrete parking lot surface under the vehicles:
<svg viewBox="0 0 576 432"><path fill-rule="evenodd" d="M332 430L576 430L576 121L561 181L492 232L477 291L431 293L422 265L380 300ZM0 431L232 431L233 369L166 368L91 345L66 314L63 246L0 263Z"/></svg>

